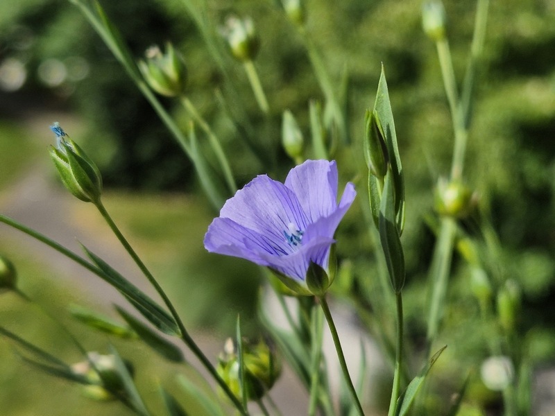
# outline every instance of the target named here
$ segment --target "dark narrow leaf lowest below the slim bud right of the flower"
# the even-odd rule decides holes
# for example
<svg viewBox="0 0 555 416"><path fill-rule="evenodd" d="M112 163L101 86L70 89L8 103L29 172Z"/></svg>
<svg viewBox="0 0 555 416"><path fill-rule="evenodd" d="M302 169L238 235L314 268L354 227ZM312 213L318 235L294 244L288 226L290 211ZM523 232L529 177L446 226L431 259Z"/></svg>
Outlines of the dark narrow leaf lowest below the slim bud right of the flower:
<svg viewBox="0 0 555 416"><path fill-rule="evenodd" d="M393 291L400 293L404 286L404 253L398 228L395 224L393 184L388 171L382 201L379 205L379 241L382 243L387 270Z"/></svg>

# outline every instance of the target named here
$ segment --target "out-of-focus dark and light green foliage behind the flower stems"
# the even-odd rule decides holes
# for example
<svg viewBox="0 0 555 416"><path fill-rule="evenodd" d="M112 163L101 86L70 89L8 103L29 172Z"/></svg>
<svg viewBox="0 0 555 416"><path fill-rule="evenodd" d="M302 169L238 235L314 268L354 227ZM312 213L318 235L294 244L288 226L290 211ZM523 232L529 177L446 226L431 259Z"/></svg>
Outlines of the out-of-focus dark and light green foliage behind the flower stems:
<svg viewBox="0 0 555 416"><path fill-rule="evenodd" d="M240 65L229 57L225 64L239 87L237 101L245 105L254 120L253 130L261 140L272 143L279 143L280 116L284 109L295 114L307 135L308 101L323 98L305 49L276 7L277 3L214 0L210 2L209 16L218 24L228 12L250 15L255 21L262 40L255 64L270 101L269 122L259 114ZM445 0L444 3L454 71L460 81L470 47L475 2ZM214 90L223 88L224 76L208 53L183 2L105 1L103 6L137 59L142 58L151 44L171 40L176 45L189 69L188 96L222 138L241 182L257 173L266 173L270 168L261 166L246 146L237 145L237 132L231 128L214 96ZM416 346L425 333L422 303L427 293L422 283L434 243L433 227L429 227L427 217L432 212L432 189L438 177L448 172L453 135L434 44L423 35L420 26L420 6L421 2L416 0L307 1L307 28L323 53L330 73L336 83L343 71L348 73L348 127L353 145L352 153L339 155L339 171L344 179L355 180L359 189L364 189L364 179L350 174L364 164L359 151L364 111L373 103L380 62L386 67L407 182L407 229L403 235L408 276L405 309L408 331ZM89 73L83 80L66 80L47 89L31 76L22 91L11 93L10 97L17 100L23 93L47 94L78 112L89 127L84 146L90 148L89 154L101 165L106 182L133 189L193 189L189 162L108 49L69 3L25 0L19 1L17 7L0 3L0 34L0 60L19 58L31 74L51 58L62 62L75 56L85 58ZM33 42L22 47L25 36L31 36ZM489 250L495 259L490 259L489 264L494 281L515 279L522 288L525 312L518 327L524 337L522 348L533 352L532 365L553 359L555 352L551 332L555 327L555 313L550 308L555 297L554 44L555 3L552 0L492 2L486 50L479 65L478 99L465 172L468 184L478 191L485 208L481 219L491 223L501 242L501 245L491 241L484 245L484 250ZM3 96L8 95L3 93ZM171 101L164 103L185 125L185 112L177 105L172 107ZM284 153L280 153L279 161L278 166L271 168L275 177L290 166ZM114 206L119 209L126 202L119 200ZM341 226L343 236L360 236L355 220L362 214L360 208L350 212ZM132 216L130 229L148 238L148 245L160 244L157 259L164 259L164 243L159 239L165 239L167 234L159 232L162 229L164 233L179 233L180 227L164 227L167 223L175 225L166 216L160 222L153 220L146 224L143 219L139 216L135 220ZM188 224L189 220L184 221ZM200 227L200 223L193 225ZM465 225L470 235L478 233L476 223L469 221ZM197 232L202 234L201 230ZM360 237L339 238L340 254L356 264L352 270L355 278L350 280L353 286L341 286L339 279L336 282L334 290L339 294L355 292L357 279L377 268L368 257L373 243L367 237ZM167 250L198 255L198 266L194 265L189 273L208 279L208 275L203 275L207 254L203 253L200 241L195 244L194 250L189 243ZM225 285L214 286L211 293L212 289L207 290L207 286L196 291L191 281L187 295L196 299L212 296L228 299L222 293L237 288L236 281L229 280L230 276L239 281L246 275L242 268L230 270L235 263L230 261L212 275L225 281ZM178 276L182 270L179 261L164 264L160 266L162 274ZM479 308L469 291L469 279L468 266L456 258L449 293L451 308L445 314L445 327L454 330L447 331L443 338L450 343L447 354L456 356L459 366L466 364L464 357L471 363L475 356L488 354L481 343L481 333L489 328L476 328ZM244 283L244 287L254 286ZM243 307L252 313L253 309L248 308L253 308L255 295L252 291L235 291L231 303L249 305ZM187 302L186 297L183 302ZM200 322L214 324L210 311L192 313L198 313ZM443 383L445 390L456 390L458 385L452 384L450 376L459 371L459 366L445 365L437 384ZM454 379L459 382L458 378ZM488 399L491 398L484 400Z"/></svg>

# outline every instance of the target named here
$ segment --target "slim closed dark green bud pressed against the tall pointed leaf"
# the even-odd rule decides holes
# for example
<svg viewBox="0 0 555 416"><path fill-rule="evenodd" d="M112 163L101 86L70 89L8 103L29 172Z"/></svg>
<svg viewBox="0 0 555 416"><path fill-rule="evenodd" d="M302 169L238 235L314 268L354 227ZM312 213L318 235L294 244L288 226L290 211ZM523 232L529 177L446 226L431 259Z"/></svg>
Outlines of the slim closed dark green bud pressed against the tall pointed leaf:
<svg viewBox="0 0 555 416"><path fill-rule="evenodd" d="M387 148L377 123L376 115L370 110L366 110L364 116L364 158L370 173L379 179L383 179L387 173Z"/></svg>

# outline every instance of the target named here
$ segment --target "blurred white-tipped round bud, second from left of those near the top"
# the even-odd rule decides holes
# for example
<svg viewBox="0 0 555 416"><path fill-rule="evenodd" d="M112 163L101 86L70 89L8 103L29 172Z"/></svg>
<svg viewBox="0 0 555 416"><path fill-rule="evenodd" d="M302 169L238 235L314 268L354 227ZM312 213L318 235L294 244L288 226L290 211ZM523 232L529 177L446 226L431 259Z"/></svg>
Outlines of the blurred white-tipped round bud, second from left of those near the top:
<svg viewBox="0 0 555 416"><path fill-rule="evenodd" d="M241 62L253 60L258 53L260 40L250 17L239 19L230 16L225 21L222 35L228 41L233 57Z"/></svg>

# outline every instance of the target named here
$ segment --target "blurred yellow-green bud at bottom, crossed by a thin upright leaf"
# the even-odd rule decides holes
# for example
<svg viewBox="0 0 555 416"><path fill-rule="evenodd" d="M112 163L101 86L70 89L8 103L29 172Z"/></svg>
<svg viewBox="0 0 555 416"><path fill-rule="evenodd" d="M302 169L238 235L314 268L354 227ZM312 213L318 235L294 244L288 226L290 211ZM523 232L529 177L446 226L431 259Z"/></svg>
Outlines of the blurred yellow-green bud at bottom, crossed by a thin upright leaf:
<svg viewBox="0 0 555 416"><path fill-rule="evenodd" d="M263 340L256 344L243 343L243 362L246 397L248 400L261 399L280 376L281 363L273 347L268 346ZM239 358L231 338L225 343L216 370L233 394L241 399Z"/></svg>

